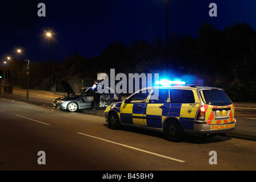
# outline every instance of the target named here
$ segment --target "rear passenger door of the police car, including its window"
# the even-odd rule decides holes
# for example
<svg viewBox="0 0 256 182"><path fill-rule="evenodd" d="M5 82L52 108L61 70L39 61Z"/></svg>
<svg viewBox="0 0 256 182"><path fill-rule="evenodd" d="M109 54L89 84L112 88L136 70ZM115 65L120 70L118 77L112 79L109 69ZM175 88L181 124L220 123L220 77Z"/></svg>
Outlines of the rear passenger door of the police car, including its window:
<svg viewBox="0 0 256 182"><path fill-rule="evenodd" d="M161 128L170 109L170 89L154 88L145 111L145 126Z"/></svg>

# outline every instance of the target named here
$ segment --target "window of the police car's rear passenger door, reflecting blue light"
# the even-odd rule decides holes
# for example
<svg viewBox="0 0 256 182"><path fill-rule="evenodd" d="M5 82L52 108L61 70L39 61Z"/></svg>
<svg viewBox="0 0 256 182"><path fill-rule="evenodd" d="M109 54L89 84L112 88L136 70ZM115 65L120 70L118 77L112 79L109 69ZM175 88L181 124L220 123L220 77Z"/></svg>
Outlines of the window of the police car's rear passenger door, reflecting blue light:
<svg viewBox="0 0 256 182"><path fill-rule="evenodd" d="M149 98L151 104L164 104L170 102L169 89L154 89Z"/></svg>

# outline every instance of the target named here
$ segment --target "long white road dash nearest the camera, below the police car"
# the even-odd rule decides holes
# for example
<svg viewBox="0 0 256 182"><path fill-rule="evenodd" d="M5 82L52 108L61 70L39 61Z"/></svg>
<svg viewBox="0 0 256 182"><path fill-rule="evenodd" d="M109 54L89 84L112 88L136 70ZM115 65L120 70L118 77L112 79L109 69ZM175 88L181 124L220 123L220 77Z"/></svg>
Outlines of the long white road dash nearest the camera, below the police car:
<svg viewBox="0 0 256 182"><path fill-rule="evenodd" d="M94 137L94 136L87 135L87 134L84 134L84 133L79 133L79 132L78 132L77 134L81 134L81 135L85 135L85 136L87 136L87 137L91 137L91 138L103 140L103 141L109 142L109 143L118 144L119 146L131 148L131 149L134 149L134 150L138 150L138 151L141 151L141 152L145 152L145 153L147 153L147 154L156 155L156 156L159 156L159 157L161 157L161 158L166 158L166 159L170 159L170 160L175 160L175 161L180 162L180 163L185 163L184 160L179 160L179 159L175 159L175 158L170 158L169 156L165 156L165 155L157 154L157 153L154 153L154 152L142 150L142 149L140 149L140 148L135 148L135 147L127 146L126 144L121 144L121 143L113 142L113 141L110 141L110 140L106 140L106 139L103 139L103 138Z"/></svg>

